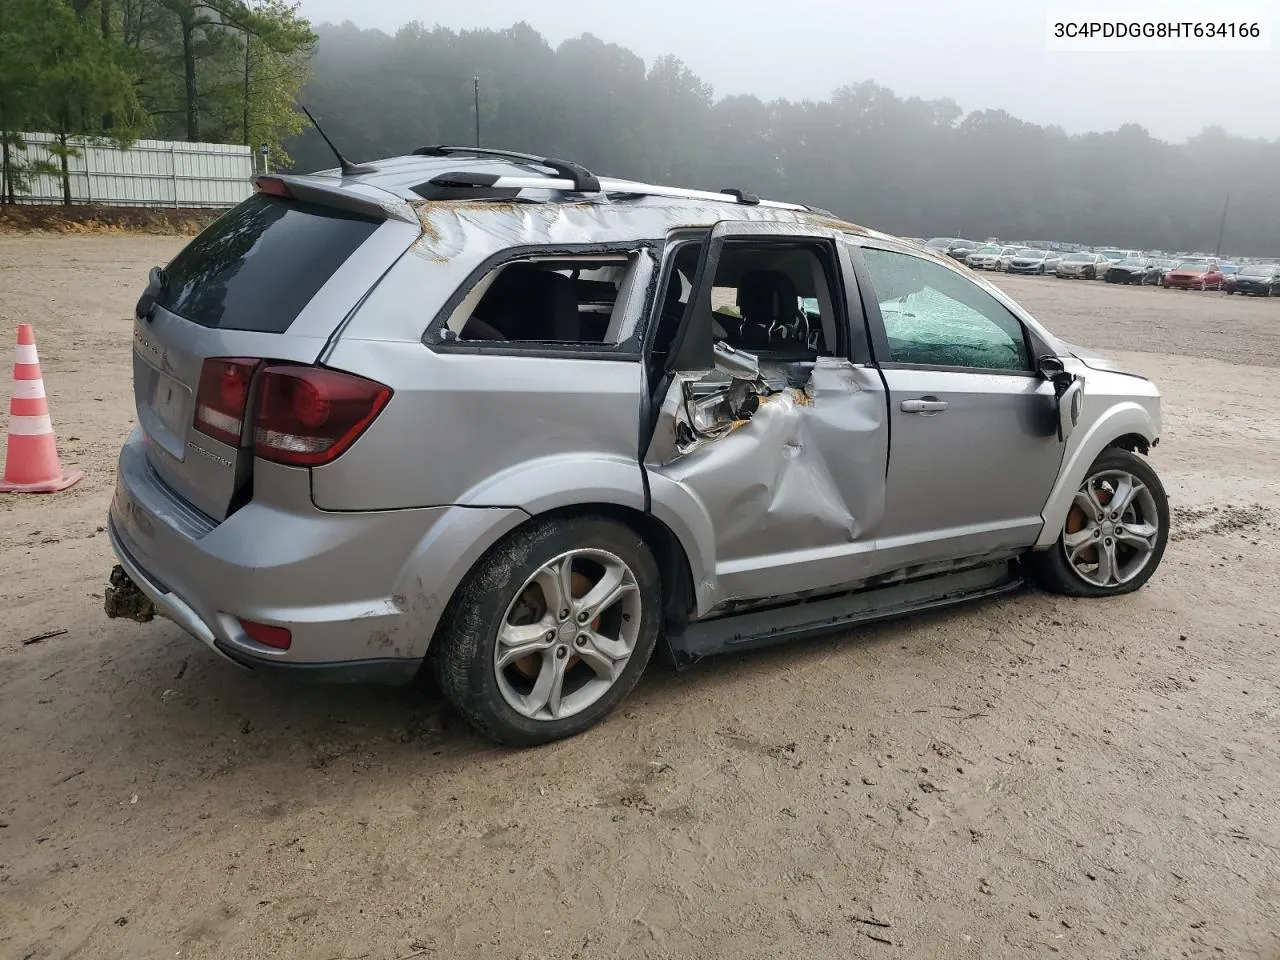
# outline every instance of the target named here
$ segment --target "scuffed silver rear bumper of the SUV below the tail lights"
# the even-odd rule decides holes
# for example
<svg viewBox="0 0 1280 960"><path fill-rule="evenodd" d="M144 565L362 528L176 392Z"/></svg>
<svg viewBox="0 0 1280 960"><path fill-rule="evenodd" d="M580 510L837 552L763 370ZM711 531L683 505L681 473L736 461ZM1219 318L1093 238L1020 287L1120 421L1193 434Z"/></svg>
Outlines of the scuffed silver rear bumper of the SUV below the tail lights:
<svg viewBox="0 0 1280 960"><path fill-rule="evenodd" d="M527 515L434 507L334 513L259 499L192 524L134 430L120 451L111 547L157 611L221 657L325 680L404 680L471 564ZM289 649L239 620L288 627Z"/></svg>

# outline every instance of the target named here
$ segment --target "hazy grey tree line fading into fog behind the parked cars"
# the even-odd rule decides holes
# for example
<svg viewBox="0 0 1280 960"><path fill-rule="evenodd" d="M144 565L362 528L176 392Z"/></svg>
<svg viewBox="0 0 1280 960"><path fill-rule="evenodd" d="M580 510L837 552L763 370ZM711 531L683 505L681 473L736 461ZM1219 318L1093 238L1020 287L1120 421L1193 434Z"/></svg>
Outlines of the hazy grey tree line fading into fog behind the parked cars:
<svg viewBox="0 0 1280 960"><path fill-rule="evenodd" d="M740 187L904 236L1166 251L1212 251L1230 193L1222 252L1280 255L1280 140L1210 127L1169 143L1140 125L1140 104L1133 123L1073 136L872 82L817 101L717 99L675 58L646 67L590 35L553 47L525 23L316 32L303 101L353 160L474 143L479 77L485 145L596 173ZM288 148L298 170L333 165L314 131Z"/></svg>

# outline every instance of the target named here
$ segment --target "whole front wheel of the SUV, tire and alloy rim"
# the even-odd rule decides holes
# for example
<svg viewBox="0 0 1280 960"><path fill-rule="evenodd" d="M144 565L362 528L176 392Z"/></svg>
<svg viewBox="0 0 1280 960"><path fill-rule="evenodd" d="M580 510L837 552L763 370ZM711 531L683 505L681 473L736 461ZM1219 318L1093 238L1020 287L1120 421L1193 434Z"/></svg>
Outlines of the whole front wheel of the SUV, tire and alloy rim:
<svg viewBox="0 0 1280 960"><path fill-rule="evenodd" d="M1169 541L1169 498L1143 457L1108 448L1075 494L1062 534L1030 553L1036 581L1068 596L1119 596L1146 584Z"/></svg>

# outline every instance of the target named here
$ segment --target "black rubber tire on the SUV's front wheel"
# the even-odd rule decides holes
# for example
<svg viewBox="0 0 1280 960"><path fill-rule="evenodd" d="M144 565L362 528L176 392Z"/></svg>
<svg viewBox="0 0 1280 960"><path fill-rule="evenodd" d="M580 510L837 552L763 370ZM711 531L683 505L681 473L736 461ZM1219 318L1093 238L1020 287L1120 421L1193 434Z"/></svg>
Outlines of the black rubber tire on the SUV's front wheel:
<svg viewBox="0 0 1280 960"><path fill-rule="evenodd" d="M1093 489L1094 497L1098 497L1106 489L1105 486L1100 486L1101 484L1111 484L1112 492L1116 492L1121 489L1119 486L1121 477L1129 477L1130 483L1134 480L1138 481L1142 485L1142 490L1134 492L1132 502L1126 504L1119 522L1124 524L1125 517L1129 517L1129 522L1133 525L1138 525L1138 521L1140 521L1143 529L1155 526L1155 534L1149 538L1135 536L1133 530L1128 531L1130 540L1146 539L1149 549L1138 550L1133 547L1124 547L1120 538L1116 538L1111 532L1114 529L1119 529L1123 532L1124 527L1120 527L1119 524L1111 527L1106 526L1106 524L1111 522L1111 518L1105 511L1102 516L1106 520L1096 522L1091 521L1079 506L1073 506L1073 511L1068 515L1066 524L1064 524L1064 530L1053 545L1047 550L1033 550L1025 557L1032 579L1043 590L1066 596L1120 596L1139 589L1156 572L1161 558L1165 556L1165 547L1169 543L1169 497L1165 494L1165 486L1160 481L1160 476L1144 457L1117 447L1108 447L1093 461L1088 477L1080 485L1080 492L1076 497L1085 495L1085 489ZM1151 517L1146 516L1148 512L1152 515ZM1084 526L1068 532L1068 529L1079 524L1082 518ZM1152 520L1155 524L1152 524ZM1069 558L1069 553L1073 549L1073 545L1068 543L1069 538L1088 534L1093 529L1098 530L1096 535L1088 540L1073 544L1076 558L1076 562L1073 563ZM1117 557L1116 550L1121 549L1126 554L1125 561L1108 561L1107 570L1114 571L1114 576L1105 575L1100 549L1106 548L1092 547L1094 539L1110 548L1107 550L1108 557ZM1094 557L1092 563L1096 566L1096 572L1092 576L1082 572L1091 563L1088 559L1091 549ZM1120 564L1123 562L1133 564L1140 557L1146 557L1144 562L1132 572L1121 570ZM1098 582L1098 580L1105 580L1106 582Z"/></svg>

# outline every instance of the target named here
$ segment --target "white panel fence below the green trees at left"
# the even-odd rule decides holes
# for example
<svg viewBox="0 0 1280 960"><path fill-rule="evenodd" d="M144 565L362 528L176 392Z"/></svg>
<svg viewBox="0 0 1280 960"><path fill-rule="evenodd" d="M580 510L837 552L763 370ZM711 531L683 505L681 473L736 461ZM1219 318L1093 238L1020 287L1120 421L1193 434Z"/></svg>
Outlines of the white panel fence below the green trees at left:
<svg viewBox="0 0 1280 960"><path fill-rule="evenodd" d="M19 163L45 160L58 165L50 152L52 133L24 133L26 151L14 151ZM68 159L72 202L111 206L223 207L234 206L252 192L255 170L251 147L236 143L186 143L140 140L128 150L110 143L69 138L78 156ZM60 204L60 177L36 177L31 191L18 195L19 204Z"/></svg>

